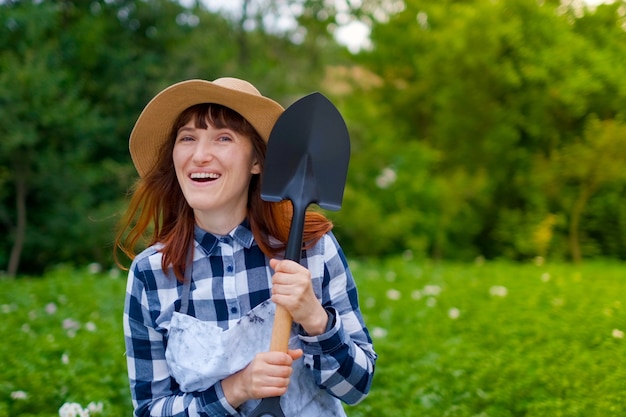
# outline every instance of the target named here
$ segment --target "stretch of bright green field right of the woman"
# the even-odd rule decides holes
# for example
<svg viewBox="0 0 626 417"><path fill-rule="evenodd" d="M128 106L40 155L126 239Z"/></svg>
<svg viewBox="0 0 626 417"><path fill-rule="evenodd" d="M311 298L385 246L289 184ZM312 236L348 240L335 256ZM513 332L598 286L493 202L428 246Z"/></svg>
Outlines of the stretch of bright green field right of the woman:
<svg viewBox="0 0 626 417"><path fill-rule="evenodd" d="M353 269L383 337L374 388L351 416L626 415L625 265Z"/></svg>

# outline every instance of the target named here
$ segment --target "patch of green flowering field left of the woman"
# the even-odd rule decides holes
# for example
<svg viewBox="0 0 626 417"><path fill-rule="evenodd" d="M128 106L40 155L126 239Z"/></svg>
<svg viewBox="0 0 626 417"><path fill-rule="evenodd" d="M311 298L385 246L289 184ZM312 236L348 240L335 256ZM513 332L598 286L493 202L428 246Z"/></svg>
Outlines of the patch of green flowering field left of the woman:
<svg viewBox="0 0 626 417"><path fill-rule="evenodd" d="M0 285L0 416L52 417L65 402L91 401L102 416L129 415L124 280L59 267ZM27 398L12 398L19 391Z"/></svg>

